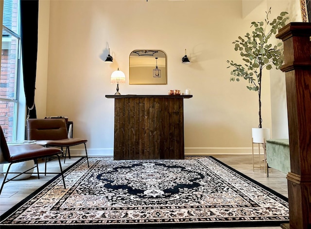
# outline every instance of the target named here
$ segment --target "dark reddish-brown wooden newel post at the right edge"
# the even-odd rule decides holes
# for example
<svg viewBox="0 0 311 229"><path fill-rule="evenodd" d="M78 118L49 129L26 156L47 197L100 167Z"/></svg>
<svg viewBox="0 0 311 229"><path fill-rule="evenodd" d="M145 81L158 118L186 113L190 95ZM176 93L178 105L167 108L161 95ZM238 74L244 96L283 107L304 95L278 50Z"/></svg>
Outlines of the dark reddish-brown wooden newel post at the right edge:
<svg viewBox="0 0 311 229"><path fill-rule="evenodd" d="M290 223L311 229L311 23L292 22L276 35L284 42L291 172L287 175Z"/></svg>

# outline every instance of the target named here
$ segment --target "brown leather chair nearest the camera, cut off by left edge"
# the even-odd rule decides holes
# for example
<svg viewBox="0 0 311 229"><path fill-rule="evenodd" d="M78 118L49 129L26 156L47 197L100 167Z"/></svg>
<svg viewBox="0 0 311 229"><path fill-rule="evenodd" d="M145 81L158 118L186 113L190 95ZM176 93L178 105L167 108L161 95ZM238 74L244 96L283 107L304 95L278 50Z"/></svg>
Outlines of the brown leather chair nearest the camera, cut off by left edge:
<svg viewBox="0 0 311 229"><path fill-rule="evenodd" d="M58 157L59 168L60 168L60 172L61 172L63 182L64 182L64 188L66 188L63 169L62 169L62 165L61 165L60 157L59 157L59 154L63 153L62 150L60 150L59 148L55 148L55 147L46 148L46 147L42 147L36 144L26 144L26 145L17 145L17 146L8 147L1 126L0 126L0 130L1 130L0 131L0 143L1 143L0 144L0 164L10 163L5 173L1 188L0 188L0 194L2 192L2 189L5 183L17 178L21 174L27 173L30 170L29 169L27 171L21 171L20 173L17 173L17 176L14 176L13 178L6 180L8 174L11 174L10 167L12 164L18 163L18 162L26 162L30 160L35 160L35 167L37 169L38 179L40 179L37 159L53 157L53 156ZM16 174L16 172L14 172L13 174ZM55 173L51 173L51 174L55 174Z"/></svg>

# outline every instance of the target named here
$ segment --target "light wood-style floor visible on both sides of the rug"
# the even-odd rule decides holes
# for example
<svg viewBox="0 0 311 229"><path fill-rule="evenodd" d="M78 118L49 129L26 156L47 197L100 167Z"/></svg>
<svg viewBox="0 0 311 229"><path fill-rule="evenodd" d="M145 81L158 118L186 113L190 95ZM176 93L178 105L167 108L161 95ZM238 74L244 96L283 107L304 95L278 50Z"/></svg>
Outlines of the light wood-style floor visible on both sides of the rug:
<svg viewBox="0 0 311 229"><path fill-rule="evenodd" d="M275 190L276 192L288 197L286 174L277 171L276 169L269 169L269 177L267 178L264 169L255 168L253 172L252 155L211 155L223 163L231 166L232 168L242 172L246 176L257 180L261 184ZM79 158L66 159L66 164L62 162L63 169L79 160ZM255 162L259 164L259 159L255 158ZM57 160L48 163L48 169L51 172L59 172L59 165ZM40 172L44 171L43 160L39 165ZM35 175L27 180L14 180L4 184L4 188L0 195L0 215L9 210L19 201L26 196L33 193L37 188L41 187L44 183L52 179L55 175L48 174L47 176L41 175L40 180ZM0 182L3 181L3 175L0 175ZM231 228L231 229L241 229ZM252 228L243 228L252 229ZM280 227L262 227L256 229L280 229Z"/></svg>

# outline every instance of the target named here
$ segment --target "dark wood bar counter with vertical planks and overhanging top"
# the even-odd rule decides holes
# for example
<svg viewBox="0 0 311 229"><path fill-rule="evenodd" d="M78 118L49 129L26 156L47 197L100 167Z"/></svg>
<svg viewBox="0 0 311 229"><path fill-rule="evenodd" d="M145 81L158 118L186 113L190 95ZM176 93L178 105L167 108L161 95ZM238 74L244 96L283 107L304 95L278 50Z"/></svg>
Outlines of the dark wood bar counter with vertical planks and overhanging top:
<svg viewBox="0 0 311 229"><path fill-rule="evenodd" d="M184 159L184 98L106 95L115 99L114 160Z"/></svg>

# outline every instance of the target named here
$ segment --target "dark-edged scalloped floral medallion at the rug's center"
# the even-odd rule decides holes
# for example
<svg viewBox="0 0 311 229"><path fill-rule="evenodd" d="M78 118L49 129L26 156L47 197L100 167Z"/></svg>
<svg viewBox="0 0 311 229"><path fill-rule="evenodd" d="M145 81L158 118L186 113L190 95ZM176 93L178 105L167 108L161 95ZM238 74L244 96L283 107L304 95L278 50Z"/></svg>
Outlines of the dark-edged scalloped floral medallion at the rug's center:
<svg viewBox="0 0 311 229"><path fill-rule="evenodd" d="M196 181L203 178L203 174L184 166L149 162L117 166L97 176L105 188L123 190L139 198L171 197L182 189L199 187Z"/></svg>

